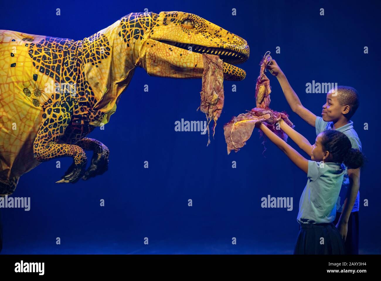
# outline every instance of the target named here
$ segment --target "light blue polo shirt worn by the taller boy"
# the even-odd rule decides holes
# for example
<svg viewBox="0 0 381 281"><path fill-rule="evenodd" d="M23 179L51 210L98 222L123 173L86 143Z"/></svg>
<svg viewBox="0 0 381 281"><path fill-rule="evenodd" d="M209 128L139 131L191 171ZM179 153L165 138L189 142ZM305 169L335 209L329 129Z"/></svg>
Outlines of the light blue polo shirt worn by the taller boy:
<svg viewBox="0 0 381 281"><path fill-rule="evenodd" d="M316 136L325 130L331 130L332 127L333 127L333 122L325 122L322 117L319 117L319 116L316 117L316 120L315 120ZM359 149L360 151L362 151L361 142L360 142L359 136L357 136L357 133L355 129L353 128L352 121L349 121L348 124L340 128L337 128L336 131L344 133L349 138L352 144L352 148ZM349 178L348 178L348 174L346 174L344 176L343 184L341 186L341 191L340 191L339 198L336 204L337 212L343 212L343 205L344 205L344 200L346 199L346 196L347 196L348 187L349 187ZM357 193L356 201L353 205L352 212L357 212L359 210L359 205L360 205L360 191Z"/></svg>

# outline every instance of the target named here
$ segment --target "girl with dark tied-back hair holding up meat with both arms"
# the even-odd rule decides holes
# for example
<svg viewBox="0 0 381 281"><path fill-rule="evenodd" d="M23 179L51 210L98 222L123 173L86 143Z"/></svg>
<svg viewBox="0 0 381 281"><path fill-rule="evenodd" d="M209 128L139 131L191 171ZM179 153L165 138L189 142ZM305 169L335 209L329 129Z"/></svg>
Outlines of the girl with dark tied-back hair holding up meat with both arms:
<svg viewBox="0 0 381 281"><path fill-rule="evenodd" d="M267 128L266 123L256 123L256 127L307 174L307 185L299 201L297 221L300 226L294 254L345 254L343 239L333 224L336 201L347 173L346 166L357 169L363 165L365 157L358 149L352 149L350 140L342 132L321 132L311 145L283 120L279 123L280 128L311 156L311 160L307 160ZM355 174L351 177L356 179Z"/></svg>

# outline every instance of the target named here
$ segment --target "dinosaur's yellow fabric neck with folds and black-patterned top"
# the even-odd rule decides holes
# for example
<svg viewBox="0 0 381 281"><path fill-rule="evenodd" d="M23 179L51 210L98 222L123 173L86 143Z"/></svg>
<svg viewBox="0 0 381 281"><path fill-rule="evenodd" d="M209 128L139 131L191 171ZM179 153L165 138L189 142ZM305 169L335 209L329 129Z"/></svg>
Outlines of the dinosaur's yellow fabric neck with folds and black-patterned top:
<svg viewBox="0 0 381 281"><path fill-rule="evenodd" d="M115 112L119 95L128 86L139 65L141 39L152 26L153 13L131 13L93 36L82 40L85 80L94 92L96 110L106 124Z"/></svg>

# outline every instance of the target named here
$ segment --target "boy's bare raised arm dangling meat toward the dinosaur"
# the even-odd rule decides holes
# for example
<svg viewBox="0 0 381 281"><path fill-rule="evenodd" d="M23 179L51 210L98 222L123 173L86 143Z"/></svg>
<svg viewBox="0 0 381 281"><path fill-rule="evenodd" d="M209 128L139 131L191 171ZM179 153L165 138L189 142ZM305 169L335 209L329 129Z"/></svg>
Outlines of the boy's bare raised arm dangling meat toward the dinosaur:
<svg viewBox="0 0 381 281"><path fill-rule="evenodd" d="M277 62L272 60L271 63L267 65L267 68L271 70L270 72L272 75L277 77L288 105L291 107L291 110L298 114L308 124L315 127L315 120L317 116L302 105L298 95L296 95L295 91L292 89L290 83L288 82L283 71L278 66Z"/></svg>

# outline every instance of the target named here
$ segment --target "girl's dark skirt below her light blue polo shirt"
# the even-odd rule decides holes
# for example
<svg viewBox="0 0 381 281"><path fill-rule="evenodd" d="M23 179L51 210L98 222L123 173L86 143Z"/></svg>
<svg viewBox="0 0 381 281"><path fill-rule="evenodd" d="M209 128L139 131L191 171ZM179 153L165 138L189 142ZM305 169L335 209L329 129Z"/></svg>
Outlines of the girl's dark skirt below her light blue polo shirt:
<svg viewBox="0 0 381 281"><path fill-rule="evenodd" d="M333 223L302 223L294 255L344 255L344 241Z"/></svg>

